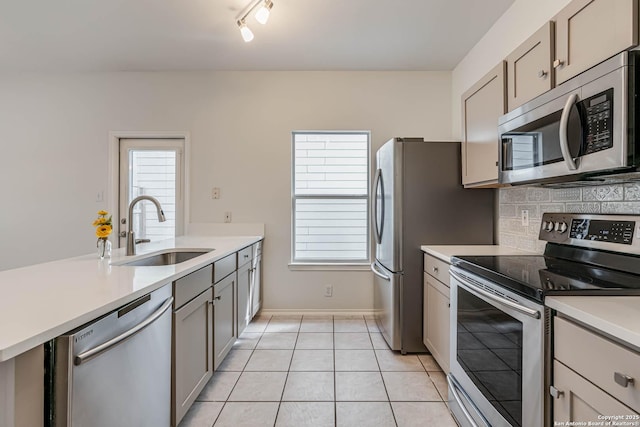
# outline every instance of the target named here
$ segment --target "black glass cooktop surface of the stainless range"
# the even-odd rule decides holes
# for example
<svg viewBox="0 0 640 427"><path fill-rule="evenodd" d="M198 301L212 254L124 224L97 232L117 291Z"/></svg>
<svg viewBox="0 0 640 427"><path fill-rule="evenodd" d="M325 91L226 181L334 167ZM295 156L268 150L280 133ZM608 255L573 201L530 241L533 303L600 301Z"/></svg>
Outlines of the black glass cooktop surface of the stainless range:
<svg viewBox="0 0 640 427"><path fill-rule="evenodd" d="M453 265L540 302L545 295L640 295L637 256L547 244L544 256L459 256Z"/></svg>

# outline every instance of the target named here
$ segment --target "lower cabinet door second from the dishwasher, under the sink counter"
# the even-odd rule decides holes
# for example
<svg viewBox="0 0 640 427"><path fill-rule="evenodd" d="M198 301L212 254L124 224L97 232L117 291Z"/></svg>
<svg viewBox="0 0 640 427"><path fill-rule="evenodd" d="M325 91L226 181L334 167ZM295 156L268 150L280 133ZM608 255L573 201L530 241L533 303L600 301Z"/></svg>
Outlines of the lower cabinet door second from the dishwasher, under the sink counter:
<svg viewBox="0 0 640 427"><path fill-rule="evenodd" d="M238 338L236 334L236 273L213 286L213 363L220 366Z"/></svg>

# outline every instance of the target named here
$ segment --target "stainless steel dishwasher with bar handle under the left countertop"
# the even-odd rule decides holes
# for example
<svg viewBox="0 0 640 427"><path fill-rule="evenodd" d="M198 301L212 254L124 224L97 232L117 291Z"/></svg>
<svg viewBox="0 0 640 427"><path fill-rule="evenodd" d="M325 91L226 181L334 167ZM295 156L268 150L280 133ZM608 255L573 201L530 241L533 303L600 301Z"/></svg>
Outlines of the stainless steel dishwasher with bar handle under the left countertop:
<svg viewBox="0 0 640 427"><path fill-rule="evenodd" d="M49 425L168 427L171 287L56 338Z"/></svg>

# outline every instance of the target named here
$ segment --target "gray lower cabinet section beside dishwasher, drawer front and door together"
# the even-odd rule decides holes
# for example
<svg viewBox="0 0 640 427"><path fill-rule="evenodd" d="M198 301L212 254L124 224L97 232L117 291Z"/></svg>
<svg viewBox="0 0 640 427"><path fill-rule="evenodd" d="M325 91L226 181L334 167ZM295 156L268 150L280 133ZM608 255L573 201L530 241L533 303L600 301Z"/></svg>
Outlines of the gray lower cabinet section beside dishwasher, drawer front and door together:
<svg viewBox="0 0 640 427"><path fill-rule="evenodd" d="M171 424L177 426L213 375L212 266L173 282Z"/></svg>

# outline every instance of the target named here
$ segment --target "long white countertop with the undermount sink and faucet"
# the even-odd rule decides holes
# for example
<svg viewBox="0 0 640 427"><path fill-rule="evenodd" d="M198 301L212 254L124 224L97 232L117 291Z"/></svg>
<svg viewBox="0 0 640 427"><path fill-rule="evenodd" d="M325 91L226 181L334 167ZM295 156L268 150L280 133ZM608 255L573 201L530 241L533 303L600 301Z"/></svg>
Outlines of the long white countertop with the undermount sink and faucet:
<svg viewBox="0 0 640 427"><path fill-rule="evenodd" d="M261 236L182 236L125 249L0 271L0 362L81 326L171 281L236 252ZM215 249L177 265L113 265L168 248Z"/></svg>

